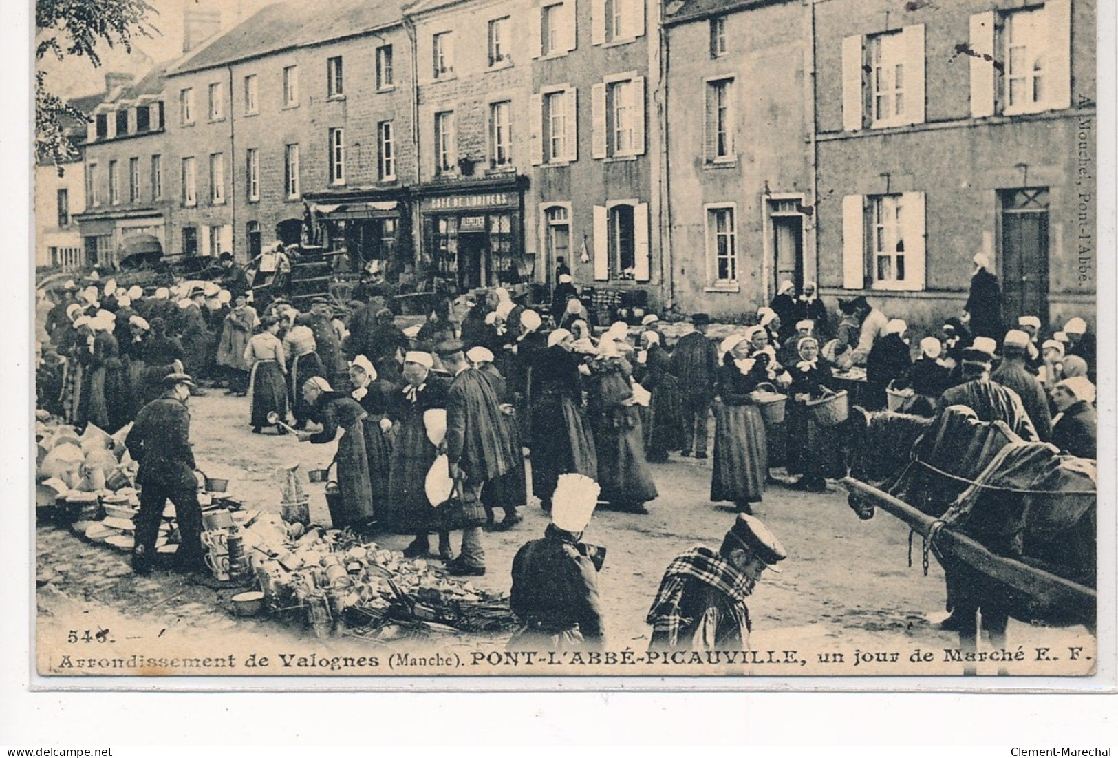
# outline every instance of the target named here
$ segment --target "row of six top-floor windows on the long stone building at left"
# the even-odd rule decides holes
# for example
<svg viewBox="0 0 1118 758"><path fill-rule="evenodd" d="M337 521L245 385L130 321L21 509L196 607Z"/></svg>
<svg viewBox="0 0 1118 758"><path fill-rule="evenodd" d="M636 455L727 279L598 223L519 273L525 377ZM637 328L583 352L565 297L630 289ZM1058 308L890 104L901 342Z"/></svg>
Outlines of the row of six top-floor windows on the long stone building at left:
<svg viewBox="0 0 1118 758"><path fill-rule="evenodd" d="M396 72L392 66L392 46L382 45L377 48L377 88L390 89L396 86ZM326 58L326 97L335 98L345 94L345 74L342 56ZM195 88L183 87L179 91L179 124L190 126L197 122ZM297 107L301 103L299 85L299 66L284 66L282 72L282 107ZM209 121L222 121L226 117L226 85L214 82L207 85L207 117ZM260 112L259 75L248 74L241 79L241 112L244 115L255 115Z"/></svg>

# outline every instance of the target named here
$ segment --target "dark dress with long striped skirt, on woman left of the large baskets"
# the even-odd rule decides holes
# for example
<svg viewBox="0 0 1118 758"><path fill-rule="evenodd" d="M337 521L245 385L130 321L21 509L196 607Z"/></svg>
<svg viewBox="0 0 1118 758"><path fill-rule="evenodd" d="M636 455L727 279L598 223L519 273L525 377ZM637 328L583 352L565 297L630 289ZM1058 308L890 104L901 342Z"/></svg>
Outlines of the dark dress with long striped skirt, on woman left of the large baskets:
<svg viewBox="0 0 1118 758"><path fill-rule="evenodd" d="M714 401L714 466L710 499L714 502L760 502L768 476L768 444L765 420L750 392L768 381L766 362L757 359L742 373L727 353L719 370Z"/></svg>

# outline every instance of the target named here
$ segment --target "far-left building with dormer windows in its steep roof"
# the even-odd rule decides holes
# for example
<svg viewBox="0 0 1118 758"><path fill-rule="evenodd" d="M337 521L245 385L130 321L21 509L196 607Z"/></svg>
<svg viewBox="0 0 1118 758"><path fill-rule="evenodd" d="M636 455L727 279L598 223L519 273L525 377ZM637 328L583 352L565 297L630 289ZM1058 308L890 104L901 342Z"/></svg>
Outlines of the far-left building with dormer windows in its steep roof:
<svg viewBox="0 0 1118 758"><path fill-rule="evenodd" d="M106 76L83 148L85 208L73 216L87 266L116 266L132 253L168 249L172 205L163 102L165 66L139 82Z"/></svg>

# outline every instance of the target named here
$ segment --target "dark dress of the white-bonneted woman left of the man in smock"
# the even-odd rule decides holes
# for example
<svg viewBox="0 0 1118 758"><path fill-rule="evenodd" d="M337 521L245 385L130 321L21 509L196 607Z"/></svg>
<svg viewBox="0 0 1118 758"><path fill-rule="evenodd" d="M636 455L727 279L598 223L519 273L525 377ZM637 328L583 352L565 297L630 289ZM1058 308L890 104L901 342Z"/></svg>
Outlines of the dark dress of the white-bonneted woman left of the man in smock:
<svg viewBox="0 0 1118 758"><path fill-rule="evenodd" d="M449 381L434 373L416 390L415 399L397 387L388 397L392 419L392 463L388 475L388 499L380 513L381 525L397 534L429 534L447 529L444 514L432 506L424 485L438 451L427 438L423 415L446 408ZM445 510L445 509L442 509Z"/></svg>

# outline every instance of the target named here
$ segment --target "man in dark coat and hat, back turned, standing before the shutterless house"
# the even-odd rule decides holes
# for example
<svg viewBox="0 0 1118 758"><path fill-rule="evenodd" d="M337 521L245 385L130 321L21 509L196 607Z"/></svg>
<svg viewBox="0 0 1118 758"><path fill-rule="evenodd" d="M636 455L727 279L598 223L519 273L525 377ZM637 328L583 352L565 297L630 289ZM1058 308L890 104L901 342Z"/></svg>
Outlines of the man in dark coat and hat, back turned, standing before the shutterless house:
<svg viewBox="0 0 1118 758"><path fill-rule="evenodd" d="M714 399L714 379L718 376L718 349L707 339L710 316L695 313L691 316L694 331L684 334L672 351L672 373L680 380L683 404L683 452L697 458L707 457L707 416Z"/></svg>

